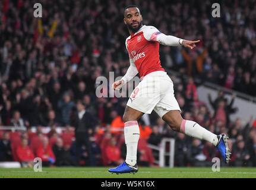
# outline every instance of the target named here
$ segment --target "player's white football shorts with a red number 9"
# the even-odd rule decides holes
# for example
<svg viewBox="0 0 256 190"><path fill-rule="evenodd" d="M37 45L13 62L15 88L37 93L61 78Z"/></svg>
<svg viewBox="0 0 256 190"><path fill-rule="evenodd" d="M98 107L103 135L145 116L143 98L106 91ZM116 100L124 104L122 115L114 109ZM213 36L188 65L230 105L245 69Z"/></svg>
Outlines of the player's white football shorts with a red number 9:
<svg viewBox="0 0 256 190"><path fill-rule="evenodd" d="M147 74L132 91L127 106L148 114L154 110L160 118L170 110L181 112L172 80L164 71Z"/></svg>

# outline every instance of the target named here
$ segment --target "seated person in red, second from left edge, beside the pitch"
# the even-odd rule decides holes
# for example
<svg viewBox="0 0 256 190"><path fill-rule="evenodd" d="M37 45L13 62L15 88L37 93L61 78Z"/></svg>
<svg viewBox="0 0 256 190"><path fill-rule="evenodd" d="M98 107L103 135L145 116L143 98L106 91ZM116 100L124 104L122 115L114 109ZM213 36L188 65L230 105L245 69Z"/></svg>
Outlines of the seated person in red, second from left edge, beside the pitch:
<svg viewBox="0 0 256 190"><path fill-rule="evenodd" d="M27 138L22 138L21 145L17 147L17 156L21 165L23 167L29 166L30 168L33 167L34 163L34 153L31 148L28 146L29 140Z"/></svg>

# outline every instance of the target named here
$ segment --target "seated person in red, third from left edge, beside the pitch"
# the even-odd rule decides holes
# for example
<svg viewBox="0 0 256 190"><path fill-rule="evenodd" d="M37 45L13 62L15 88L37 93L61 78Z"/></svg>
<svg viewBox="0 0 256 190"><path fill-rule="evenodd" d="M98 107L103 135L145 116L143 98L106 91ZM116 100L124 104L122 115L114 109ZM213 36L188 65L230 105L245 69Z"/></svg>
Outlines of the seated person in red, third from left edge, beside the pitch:
<svg viewBox="0 0 256 190"><path fill-rule="evenodd" d="M42 166L53 166L55 163L55 155L49 146L48 137L42 137L42 145L37 148L36 156L42 159Z"/></svg>

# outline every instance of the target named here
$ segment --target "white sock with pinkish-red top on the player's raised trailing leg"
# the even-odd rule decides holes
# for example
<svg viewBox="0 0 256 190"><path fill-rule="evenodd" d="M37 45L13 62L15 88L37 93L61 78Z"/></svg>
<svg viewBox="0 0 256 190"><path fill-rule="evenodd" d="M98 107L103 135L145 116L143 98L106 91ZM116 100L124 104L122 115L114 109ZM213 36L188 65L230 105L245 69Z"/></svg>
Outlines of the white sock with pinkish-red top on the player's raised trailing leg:
<svg viewBox="0 0 256 190"><path fill-rule="evenodd" d="M182 132L190 137L208 141L214 146L216 146L218 142L217 135L208 131L206 128L203 128L194 121L183 119L181 123L181 129L179 132Z"/></svg>

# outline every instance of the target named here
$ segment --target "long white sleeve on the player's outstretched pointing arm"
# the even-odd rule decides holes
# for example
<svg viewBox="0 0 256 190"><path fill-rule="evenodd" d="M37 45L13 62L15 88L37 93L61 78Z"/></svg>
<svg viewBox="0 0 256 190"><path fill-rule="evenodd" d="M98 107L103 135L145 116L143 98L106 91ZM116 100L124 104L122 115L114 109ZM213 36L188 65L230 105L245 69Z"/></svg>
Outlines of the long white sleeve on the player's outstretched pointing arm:
<svg viewBox="0 0 256 190"><path fill-rule="evenodd" d="M144 37L148 41L159 42L164 46L181 46L183 39L163 34L156 27L148 26L144 31Z"/></svg>

